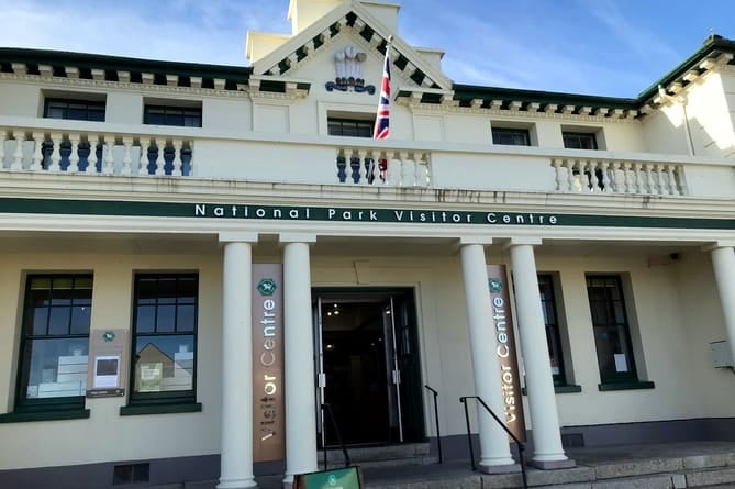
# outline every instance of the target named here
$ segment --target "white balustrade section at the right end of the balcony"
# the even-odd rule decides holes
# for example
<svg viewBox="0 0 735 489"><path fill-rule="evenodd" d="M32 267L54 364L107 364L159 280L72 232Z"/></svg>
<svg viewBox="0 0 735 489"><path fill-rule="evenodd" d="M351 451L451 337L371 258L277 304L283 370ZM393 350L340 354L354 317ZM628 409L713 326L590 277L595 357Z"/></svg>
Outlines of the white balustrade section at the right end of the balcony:
<svg viewBox="0 0 735 489"><path fill-rule="evenodd" d="M681 164L553 158L552 167L559 192L687 195Z"/></svg>

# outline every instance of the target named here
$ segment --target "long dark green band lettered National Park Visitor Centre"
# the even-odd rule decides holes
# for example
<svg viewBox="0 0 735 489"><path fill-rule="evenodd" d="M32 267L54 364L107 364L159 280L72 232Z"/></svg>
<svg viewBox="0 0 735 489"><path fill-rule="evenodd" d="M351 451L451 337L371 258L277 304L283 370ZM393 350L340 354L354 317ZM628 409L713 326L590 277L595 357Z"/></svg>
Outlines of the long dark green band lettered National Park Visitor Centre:
<svg viewBox="0 0 735 489"><path fill-rule="evenodd" d="M293 216L290 215L291 212ZM0 214L118 215L151 218L225 219L250 221L381 222L398 224L469 224L534 227L634 227L735 230L735 219L657 218L644 215L564 214L441 209L328 208L253 205L248 203L142 202L0 198ZM456 220L454 219L456 218Z"/></svg>

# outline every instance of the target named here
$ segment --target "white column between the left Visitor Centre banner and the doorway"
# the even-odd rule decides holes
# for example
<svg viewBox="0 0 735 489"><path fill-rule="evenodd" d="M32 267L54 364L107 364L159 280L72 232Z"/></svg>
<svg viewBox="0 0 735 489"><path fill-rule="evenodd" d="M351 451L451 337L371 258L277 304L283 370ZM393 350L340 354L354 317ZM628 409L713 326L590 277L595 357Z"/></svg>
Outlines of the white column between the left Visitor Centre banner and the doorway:
<svg viewBox="0 0 735 489"><path fill-rule="evenodd" d="M309 243L316 236L281 234L283 246L283 351L286 356L286 477L318 470L314 337Z"/></svg>

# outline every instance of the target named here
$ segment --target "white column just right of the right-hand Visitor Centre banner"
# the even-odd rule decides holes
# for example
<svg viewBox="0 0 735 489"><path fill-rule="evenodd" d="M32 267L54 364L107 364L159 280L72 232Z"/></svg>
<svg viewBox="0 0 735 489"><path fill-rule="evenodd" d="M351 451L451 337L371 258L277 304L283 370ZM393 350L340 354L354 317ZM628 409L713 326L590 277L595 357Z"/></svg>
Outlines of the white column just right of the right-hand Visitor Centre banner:
<svg viewBox="0 0 735 489"><path fill-rule="evenodd" d="M567 458L561 447L546 326L538 294L534 244L541 244L541 240L512 240L510 246L515 310L531 411L533 463L538 468L573 467L573 460Z"/></svg>

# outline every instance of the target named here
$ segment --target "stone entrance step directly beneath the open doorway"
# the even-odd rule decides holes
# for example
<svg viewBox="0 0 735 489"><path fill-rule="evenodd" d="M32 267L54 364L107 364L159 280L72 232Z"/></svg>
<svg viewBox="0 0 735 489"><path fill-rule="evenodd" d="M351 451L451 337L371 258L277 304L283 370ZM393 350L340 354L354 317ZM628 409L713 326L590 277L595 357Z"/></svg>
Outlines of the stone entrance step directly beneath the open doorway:
<svg viewBox="0 0 735 489"><path fill-rule="evenodd" d="M428 454L428 443L403 443L400 445L347 447L352 465L360 467L390 467L405 465L435 464L437 458ZM319 465L324 466L324 451L320 451ZM326 462L330 467L343 466L345 457L342 448L328 448Z"/></svg>

